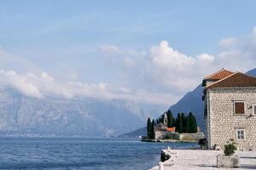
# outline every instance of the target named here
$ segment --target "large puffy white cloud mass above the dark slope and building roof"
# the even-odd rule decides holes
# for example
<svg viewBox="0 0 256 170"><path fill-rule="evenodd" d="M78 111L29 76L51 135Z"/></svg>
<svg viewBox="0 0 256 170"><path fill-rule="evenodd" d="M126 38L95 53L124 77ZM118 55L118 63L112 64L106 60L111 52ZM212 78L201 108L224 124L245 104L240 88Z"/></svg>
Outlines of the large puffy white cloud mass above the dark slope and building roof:
<svg viewBox="0 0 256 170"><path fill-rule="evenodd" d="M120 81L130 83L128 87L143 89L145 94L153 94L148 94L147 99L155 102L153 96L155 99L164 99L163 96L169 94L172 98L182 96L195 88L203 77L222 68L243 72L255 68L256 27L247 36L224 38L218 45L218 54L203 53L189 56L172 48L168 42L162 41L146 52L124 50L114 46L118 53L112 56L120 60L119 64L126 61L123 62L125 70L120 70ZM133 54L128 55L129 51L133 51ZM141 93L139 95L143 96Z"/></svg>

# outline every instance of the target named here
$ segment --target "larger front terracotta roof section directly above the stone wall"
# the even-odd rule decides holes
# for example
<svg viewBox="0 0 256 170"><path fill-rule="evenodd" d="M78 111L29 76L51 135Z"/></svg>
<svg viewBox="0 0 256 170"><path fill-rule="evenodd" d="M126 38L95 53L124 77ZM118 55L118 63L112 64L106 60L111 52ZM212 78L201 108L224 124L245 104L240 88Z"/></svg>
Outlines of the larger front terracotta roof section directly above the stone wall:
<svg viewBox="0 0 256 170"><path fill-rule="evenodd" d="M236 72L206 88L256 88L256 77L249 77L241 72Z"/></svg>

